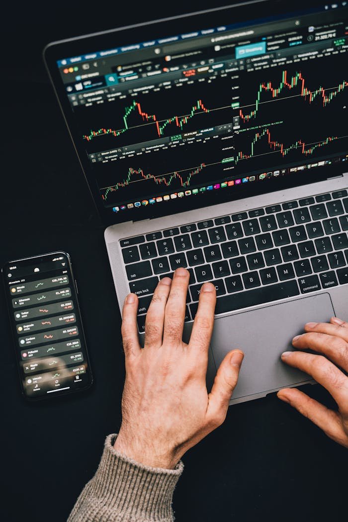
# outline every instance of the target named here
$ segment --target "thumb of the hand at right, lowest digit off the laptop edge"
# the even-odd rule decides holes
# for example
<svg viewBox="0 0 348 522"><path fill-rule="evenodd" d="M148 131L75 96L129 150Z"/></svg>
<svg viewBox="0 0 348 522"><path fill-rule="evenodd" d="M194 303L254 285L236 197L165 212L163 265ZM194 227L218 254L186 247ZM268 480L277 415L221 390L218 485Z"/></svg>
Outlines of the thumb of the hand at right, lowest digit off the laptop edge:
<svg viewBox="0 0 348 522"><path fill-rule="evenodd" d="M340 416L335 411L329 410L296 388L284 388L278 392L277 396L314 422L334 441L340 442L344 438Z"/></svg>

